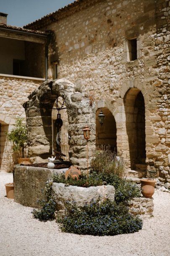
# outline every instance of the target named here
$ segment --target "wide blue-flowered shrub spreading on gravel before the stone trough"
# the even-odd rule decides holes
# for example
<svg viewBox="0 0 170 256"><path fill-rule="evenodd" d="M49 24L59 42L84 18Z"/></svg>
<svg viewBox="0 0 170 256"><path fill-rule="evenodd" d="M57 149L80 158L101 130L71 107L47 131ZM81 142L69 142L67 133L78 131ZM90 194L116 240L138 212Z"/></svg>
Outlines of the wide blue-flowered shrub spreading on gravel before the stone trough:
<svg viewBox="0 0 170 256"><path fill-rule="evenodd" d="M142 227L142 221L128 212L123 204L106 200L104 203L92 201L78 209L68 204L63 218L58 217L63 232L79 235L119 235L134 233Z"/></svg>

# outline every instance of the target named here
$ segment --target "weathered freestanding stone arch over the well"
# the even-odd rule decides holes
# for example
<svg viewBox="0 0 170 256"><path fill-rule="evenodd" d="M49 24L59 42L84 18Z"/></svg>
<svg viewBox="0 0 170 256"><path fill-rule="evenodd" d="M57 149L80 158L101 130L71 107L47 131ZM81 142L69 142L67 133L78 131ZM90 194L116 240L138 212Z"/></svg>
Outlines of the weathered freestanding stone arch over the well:
<svg viewBox="0 0 170 256"><path fill-rule="evenodd" d="M23 106L26 111L28 129L28 152L30 157L47 158L52 154L52 107L61 96L68 113L68 134L71 136L69 158L72 164L86 168L86 140L82 129L91 128L89 157L95 147L95 104L81 93L74 92L74 85L68 80L46 81L29 95Z"/></svg>

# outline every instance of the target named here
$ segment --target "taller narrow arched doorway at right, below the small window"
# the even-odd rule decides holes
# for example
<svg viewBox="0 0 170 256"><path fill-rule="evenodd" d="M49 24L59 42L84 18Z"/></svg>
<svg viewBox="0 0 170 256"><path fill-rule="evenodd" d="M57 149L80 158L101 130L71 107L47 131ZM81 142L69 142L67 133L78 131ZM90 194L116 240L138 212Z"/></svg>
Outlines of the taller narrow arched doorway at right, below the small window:
<svg viewBox="0 0 170 256"><path fill-rule="evenodd" d="M128 135L131 169L146 161L145 104L144 96L137 88L131 88L124 96L126 132Z"/></svg>

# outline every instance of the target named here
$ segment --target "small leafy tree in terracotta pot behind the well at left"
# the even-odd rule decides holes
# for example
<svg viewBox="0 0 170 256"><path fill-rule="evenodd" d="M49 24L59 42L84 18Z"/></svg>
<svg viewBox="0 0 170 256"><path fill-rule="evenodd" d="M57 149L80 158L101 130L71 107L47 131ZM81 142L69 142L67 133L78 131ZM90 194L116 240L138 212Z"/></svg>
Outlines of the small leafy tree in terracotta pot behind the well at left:
<svg viewBox="0 0 170 256"><path fill-rule="evenodd" d="M23 161L30 162L29 158L24 157L24 149L27 145L27 131L23 118L18 117L16 119L15 127L7 133L7 139L13 142L13 152L20 154L22 149L22 157L18 158L18 163L21 164Z"/></svg>

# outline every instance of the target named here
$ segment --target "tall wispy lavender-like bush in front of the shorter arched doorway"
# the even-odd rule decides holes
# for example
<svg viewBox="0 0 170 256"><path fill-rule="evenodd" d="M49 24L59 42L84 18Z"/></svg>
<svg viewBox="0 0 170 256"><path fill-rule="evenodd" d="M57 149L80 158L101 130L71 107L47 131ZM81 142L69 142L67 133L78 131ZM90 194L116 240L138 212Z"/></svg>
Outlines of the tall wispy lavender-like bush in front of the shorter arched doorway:
<svg viewBox="0 0 170 256"><path fill-rule="evenodd" d="M92 171L97 173L113 173L123 177L124 169L124 158L116 156L115 152L110 150L110 146L102 146L101 149L95 150L91 161Z"/></svg>

